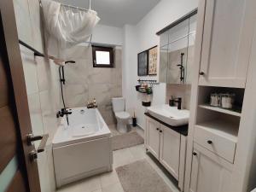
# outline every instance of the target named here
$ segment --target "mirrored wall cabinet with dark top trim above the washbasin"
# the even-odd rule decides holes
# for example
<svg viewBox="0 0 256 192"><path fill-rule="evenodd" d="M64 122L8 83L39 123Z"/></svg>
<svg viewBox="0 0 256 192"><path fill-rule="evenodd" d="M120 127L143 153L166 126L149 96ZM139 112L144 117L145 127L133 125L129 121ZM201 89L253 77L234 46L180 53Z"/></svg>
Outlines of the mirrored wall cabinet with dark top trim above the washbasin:
<svg viewBox="0 0 256 192"><path fill-rule="evenodd" d="M184 15L160 35L160 82L191 84L197 9Z"/></svg>

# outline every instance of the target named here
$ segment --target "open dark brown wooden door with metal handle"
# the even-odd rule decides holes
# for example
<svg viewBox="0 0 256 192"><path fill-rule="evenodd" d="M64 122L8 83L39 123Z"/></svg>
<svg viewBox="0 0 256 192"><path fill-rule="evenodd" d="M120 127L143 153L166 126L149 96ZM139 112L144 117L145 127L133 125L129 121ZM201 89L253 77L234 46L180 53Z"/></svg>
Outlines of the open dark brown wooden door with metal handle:
<svg viewBox="0 0 256 192"><path fill-rule="evenodd" d="M1 190L40 192L35 148L27 143L32 127L12 1L1 0L0 12Z"/></svg>

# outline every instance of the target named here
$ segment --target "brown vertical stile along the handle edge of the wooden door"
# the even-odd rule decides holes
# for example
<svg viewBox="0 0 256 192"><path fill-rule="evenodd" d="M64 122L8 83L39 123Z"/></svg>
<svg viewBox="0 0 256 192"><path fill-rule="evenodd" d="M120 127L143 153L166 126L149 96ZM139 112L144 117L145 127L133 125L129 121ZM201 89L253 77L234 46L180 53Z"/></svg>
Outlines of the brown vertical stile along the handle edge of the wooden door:
<svg viewBox="0 0 256 192"><path fill-rule="evenodd" d="M0 13L3 21L3 33L9 59L9 68L15 93L15 106L19 122L20 137L26 167L27 182L30 192L41 192L38 174L38 163L30 160L29 154L35 149L27 145L27 134L32 133L32 124L28 108L26 82L20 55L20 45L15 20L15 9L12 0L0 1Z"/></svg>

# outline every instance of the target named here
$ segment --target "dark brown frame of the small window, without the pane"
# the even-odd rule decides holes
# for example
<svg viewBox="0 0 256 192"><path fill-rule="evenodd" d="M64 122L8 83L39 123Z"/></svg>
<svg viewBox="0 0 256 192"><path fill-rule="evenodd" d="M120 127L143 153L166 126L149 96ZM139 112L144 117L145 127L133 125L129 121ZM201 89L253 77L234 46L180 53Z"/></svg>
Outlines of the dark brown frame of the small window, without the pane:
<svg viewBox="0 0 256 192"><path fill-rule="evenodd" d="M109 64L96 64L96 51L105 51L109 53ZM103 46L97 46L92 45L92 63L93 67L104 67L104 68L113 68L113 47L103 47Z"/></svg>

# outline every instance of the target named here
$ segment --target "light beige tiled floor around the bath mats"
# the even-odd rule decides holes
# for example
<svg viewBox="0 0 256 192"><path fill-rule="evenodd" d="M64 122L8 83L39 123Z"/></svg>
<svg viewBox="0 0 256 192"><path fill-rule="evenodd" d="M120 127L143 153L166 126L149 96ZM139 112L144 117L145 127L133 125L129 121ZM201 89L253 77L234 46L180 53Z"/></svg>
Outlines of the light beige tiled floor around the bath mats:
<svg viewBox="0 0 256 192"><path fill-rule="evenodd" d="M140 128L135 128L134 130L143 135L143 131ZM164 179L173 192L179 191L176 187L176 181L154 160L152 155L146 154L144 145L137 145L113 151L113 172L103 173L102 175L86 178L78 183L69 184L57 190L57 192L123 192L124 190L119 182L115 168L143 159L148 160L148 163L154 167L154 170L159 173L160 177Z"/></svg>

